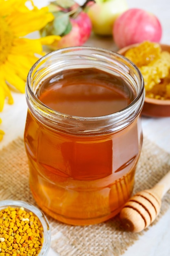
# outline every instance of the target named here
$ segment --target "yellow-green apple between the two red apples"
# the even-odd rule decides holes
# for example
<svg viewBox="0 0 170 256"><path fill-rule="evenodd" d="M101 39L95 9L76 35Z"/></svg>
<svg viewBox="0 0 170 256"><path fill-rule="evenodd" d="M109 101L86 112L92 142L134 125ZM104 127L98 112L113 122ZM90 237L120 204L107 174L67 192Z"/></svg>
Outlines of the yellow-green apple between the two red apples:
<svg viewBox="0 0 170 256"><path fill-rule="evenodd" d="M116 18L128 9L126 0L95 0L87 4L93 31L102 36L111 36Z"/></svg>

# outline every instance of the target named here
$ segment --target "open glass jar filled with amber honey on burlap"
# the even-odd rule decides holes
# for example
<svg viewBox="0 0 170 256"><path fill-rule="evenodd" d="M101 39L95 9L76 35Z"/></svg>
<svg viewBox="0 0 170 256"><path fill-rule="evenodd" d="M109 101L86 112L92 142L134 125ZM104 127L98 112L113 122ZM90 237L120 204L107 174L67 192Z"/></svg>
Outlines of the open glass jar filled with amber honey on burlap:
<svg viewBox="0 0 170 256"><path fill-rule="evenodd" d="M24 142L38 205L72 225L115 216L132 193L142 146L137 67L106 49L60 49L31 68L26 101Z"/></svg>

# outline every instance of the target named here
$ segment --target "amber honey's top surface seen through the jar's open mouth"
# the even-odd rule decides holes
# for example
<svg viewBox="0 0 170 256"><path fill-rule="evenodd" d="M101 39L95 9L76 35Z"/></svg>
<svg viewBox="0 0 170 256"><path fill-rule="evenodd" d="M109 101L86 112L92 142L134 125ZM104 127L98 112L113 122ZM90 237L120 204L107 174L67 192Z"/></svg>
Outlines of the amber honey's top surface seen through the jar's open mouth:
<svg viewBox="0 0 170 256"><path fill-rule="evenodd" d="M56 74L41 85L37 94L49 108L77 117L113 114L135 99L121 79L97 69Z"/></svg>

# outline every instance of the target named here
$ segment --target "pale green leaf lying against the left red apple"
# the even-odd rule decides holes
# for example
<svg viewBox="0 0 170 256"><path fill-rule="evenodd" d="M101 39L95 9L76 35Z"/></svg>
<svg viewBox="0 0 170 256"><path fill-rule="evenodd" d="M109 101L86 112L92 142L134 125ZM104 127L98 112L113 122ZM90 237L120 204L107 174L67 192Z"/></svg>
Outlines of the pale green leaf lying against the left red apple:
<svg viewBox="0 0 170 256"><path fill-rule="evenodd" d="M57 11L53 13L54 20L53 20L53 30L52 34L61 35L66 30L68 23L69 23L69 15L64 13L63 11Z"/></svg>

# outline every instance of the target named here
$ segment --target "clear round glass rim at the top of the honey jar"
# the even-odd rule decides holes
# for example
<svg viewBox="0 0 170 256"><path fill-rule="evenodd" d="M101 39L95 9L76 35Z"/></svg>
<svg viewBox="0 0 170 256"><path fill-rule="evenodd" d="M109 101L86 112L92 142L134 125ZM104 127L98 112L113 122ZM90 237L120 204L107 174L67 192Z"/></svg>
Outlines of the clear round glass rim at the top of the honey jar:
<svg viewBox="0 0 170 256"><path fill-rule="evenodd" d="M55 54L61 54L61 53L64 53L64 52L68 52L68 51L78 51L78 50L81 50L81 49L89 49L89 50L93 50L93 51L100 51L100 52L103 52L103 53L107 53L107 54L110 54L110 55L113 55L113 56L117 56L119 57L121 60L123 61L126 61L128 63L130 63L130 65L137 71L138 75L139 75L139 79L140 79L140 82L141 82L141 88L139 90L139 93L137 94L137 96L135 97L135 99L128 105L126 106L125 108L122 108L121 110L117 111L117 112L114 112L114 113L111 113L111 114L108 114L108 115L103 115L103 116L95 116L95 117L80 117L80 116L74 116L74 115L69 115L69 114L65 114L65 113L62 113L62 112L59 112L57 110L53 110L51 108L49 108L48 106L46 106L42 101L40 101L40 99L38 99L38 97L35 96L35 94L33 93L33 90L32 88L29 86L31 84L31 74L33 72L33 70L38 66L40 65L40 63L42 61L44 61L44 59L48 58L48 57L51 57ZM142 96L143 92L144 92L144 79L143 79L143 76L141 74L141 72L139 71L138 67L132 62L130 61L128 58L126 58L125 56L122 56L121 54L117 53L117 52L113 52L111 50L108 50L108 49L105 49L105 48L102 48L102 47L94 47L94 46L73 46L73 47L66 47L66 48L62 48L62 49L57 49L53 52L50 52L50 53L47 53L46 55L42 56L38 61L36 61L33 66L31 67L31 69L29 70L29 73L28 73L28 76L27 76L27 89L29 90L29 93L31 93L31 96L33 97L34 100L36 100L38 102L38 104L40 104L41 106L43 106L43 109L46 110L46 111L49 111L51 112L51 114L55 114L55 115L58 115L60 117L63 117L65 119L76 119L76 120L79 120L79 121L83 121L83 120L86 120L86 121L96 121L96 120L103 120L103 119L108 119L108 118L114 118L114 117L117 117L117 115L122 115L124 112L126 112L129 108L131 108Z"/></svg>

